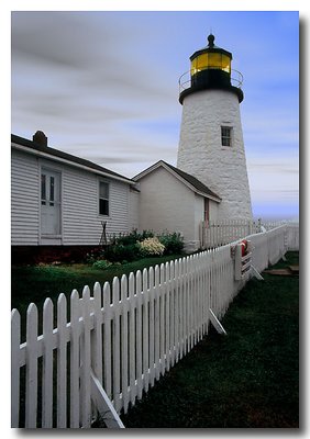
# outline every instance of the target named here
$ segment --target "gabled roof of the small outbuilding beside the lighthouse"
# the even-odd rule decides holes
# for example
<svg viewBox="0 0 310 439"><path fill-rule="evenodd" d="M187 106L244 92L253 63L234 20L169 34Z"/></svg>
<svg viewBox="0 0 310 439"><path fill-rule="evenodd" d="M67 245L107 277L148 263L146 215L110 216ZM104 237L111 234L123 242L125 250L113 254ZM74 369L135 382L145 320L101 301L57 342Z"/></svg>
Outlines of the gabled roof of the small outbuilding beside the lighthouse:
<svg viewBox="0 0 310 439"><path fill-rule="evenodd" d="M150 168L145 169L137 176L133 177L133 180L139 181L140 179L142 179L143 177L153 172L155 169L157 169L159 167L163 167L166 170L168 170L170 173L173 173L175 177L177 177L179 180L181 180L184 183L186 183L195 192L200 193L203 196L207 196L211 200L214 200L218 203L221 202L222 199L219 195L217 195L213 191L211 191L206 184L203 184L196 177L182 171L181 169L176 168L173 165L167 164L164 160L159 160L156 164L152 165Z"/></svg>

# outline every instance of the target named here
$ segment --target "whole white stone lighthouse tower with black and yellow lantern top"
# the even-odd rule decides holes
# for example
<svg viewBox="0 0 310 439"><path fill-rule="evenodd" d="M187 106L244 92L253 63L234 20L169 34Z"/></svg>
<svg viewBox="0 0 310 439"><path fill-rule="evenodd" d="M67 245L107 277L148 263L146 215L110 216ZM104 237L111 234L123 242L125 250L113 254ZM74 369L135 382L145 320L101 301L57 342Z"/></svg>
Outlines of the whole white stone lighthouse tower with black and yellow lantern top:
<svg viewBox="0 0 310 439"><path fill-rule="evenodd" d="M251 195L240 115L242 75L232 54L214 45L190 57L179 80L182 105L177 167L221 198L218 219L252 219Z"/></svg>

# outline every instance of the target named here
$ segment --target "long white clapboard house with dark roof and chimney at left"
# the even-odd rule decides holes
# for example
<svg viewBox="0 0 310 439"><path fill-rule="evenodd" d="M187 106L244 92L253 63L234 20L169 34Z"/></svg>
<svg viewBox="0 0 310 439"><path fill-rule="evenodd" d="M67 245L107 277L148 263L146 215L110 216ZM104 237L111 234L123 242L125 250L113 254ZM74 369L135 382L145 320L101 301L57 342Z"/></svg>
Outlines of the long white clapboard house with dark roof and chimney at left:
<svg viewBox="0 0 310 439"><path fill-rule="evenodd" d="M135 182L91 161L11 136L11 243L96 246L106 236L137 228Z"/></svg>

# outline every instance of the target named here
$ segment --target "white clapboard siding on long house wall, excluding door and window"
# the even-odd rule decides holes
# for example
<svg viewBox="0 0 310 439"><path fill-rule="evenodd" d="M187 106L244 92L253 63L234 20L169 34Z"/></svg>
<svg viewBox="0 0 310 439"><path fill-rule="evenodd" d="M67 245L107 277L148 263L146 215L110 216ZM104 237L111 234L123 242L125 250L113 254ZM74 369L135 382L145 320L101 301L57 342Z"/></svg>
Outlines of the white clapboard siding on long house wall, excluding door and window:
<svg viewBox="0 0 310 439"><path fill-rule="evenodd" d="M60 173L62 239L58 244L98 245L103 221L107 221L107 235L129 232L128 183L13 150L12 245L46 244L40 241L41 168ZM110 185L109 216L99 215L100 180L107 181Z"/></svg>

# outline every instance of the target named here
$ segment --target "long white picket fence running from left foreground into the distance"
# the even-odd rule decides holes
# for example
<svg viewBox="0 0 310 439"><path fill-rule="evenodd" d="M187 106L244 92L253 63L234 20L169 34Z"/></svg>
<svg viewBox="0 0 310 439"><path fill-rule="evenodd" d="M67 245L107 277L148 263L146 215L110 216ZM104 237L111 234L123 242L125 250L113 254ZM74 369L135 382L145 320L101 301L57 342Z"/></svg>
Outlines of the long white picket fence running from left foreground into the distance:
<svg viewBox="0 0 310 439"><path fill-rule="evenodd" d="M287 234L283 226L247 237L258 271L289 249ZM46 299L40 336L31 304L25 342L13 309L12 427L89 428L103 415L102 394L115 413L126 413L208 334L211 317L222 318L251 278L251 270L236 275L234 245L114 278L112 286L97 282L81 297L74 290L69 303L60 294L56 312Z"/></svg>

